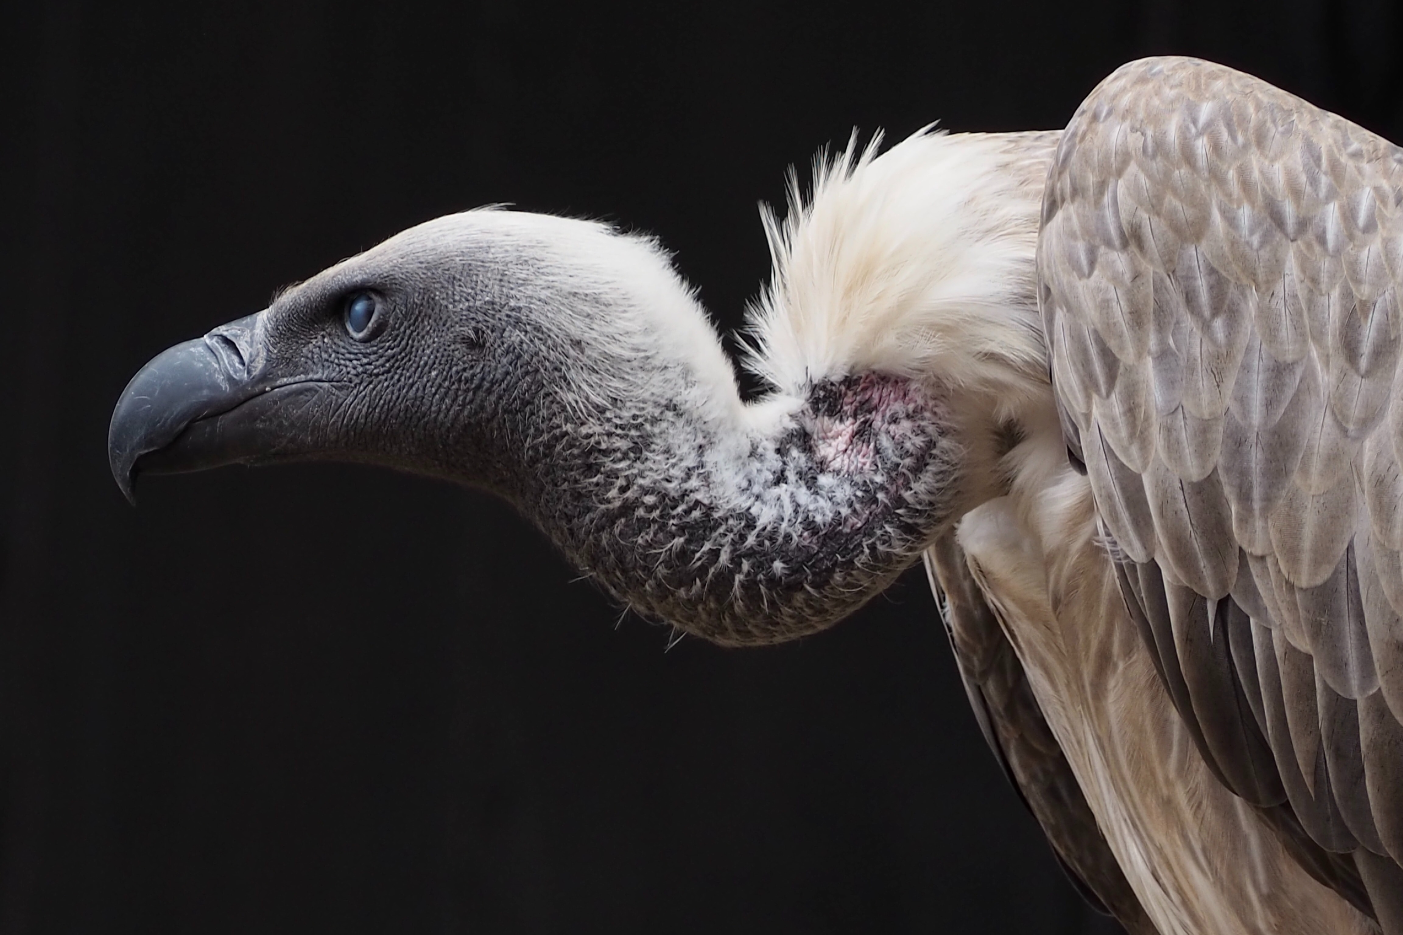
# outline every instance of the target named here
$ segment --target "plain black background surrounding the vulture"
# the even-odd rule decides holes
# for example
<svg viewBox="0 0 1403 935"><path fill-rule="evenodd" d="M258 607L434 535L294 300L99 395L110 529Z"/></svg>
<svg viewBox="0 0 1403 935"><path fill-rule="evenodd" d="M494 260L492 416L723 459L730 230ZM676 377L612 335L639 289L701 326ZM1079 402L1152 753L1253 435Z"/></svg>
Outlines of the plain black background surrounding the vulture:
<svg viewBox="0 0 1403 935"><path fill-rule="evenodd" d="M55 3L4 20L0 932L1097 932L919 576L797 644L617 609L481 496L107 469L126 379L483 202L655 232L724 327L853 126L1055 128L1152 52L1403 139L1352 1Z"/></svg>

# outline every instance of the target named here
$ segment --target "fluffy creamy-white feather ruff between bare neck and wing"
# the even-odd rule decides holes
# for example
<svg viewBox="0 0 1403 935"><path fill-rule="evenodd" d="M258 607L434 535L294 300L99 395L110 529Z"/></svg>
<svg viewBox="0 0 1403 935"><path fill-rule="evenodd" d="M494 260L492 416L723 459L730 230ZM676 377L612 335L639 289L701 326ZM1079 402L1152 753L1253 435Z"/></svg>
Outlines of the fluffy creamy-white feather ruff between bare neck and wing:
<svg viewBox="0 0 1403 935"><path fill-rule="evenodd" d="M1045 393L1033 257L1056 135L880 142L821 157L807 201L791 174L783 222L762 209L774 274L746 366L787 394L863 371Z"/></svg>

